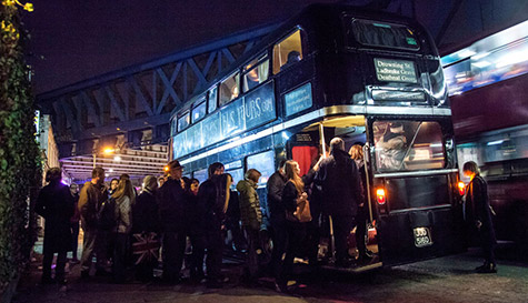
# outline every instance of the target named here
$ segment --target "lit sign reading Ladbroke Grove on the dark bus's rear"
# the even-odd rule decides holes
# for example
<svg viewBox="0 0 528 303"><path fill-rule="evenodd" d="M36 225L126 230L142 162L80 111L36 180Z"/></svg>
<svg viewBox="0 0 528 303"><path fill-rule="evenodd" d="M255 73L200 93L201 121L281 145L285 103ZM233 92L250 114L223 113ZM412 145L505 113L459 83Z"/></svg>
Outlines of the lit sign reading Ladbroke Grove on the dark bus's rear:
<svg viewBox="0 0 528 303"><path fill-rule="evenodd" d="M418 83L412 61L375 58L373 63L379 81Z"/></svg>

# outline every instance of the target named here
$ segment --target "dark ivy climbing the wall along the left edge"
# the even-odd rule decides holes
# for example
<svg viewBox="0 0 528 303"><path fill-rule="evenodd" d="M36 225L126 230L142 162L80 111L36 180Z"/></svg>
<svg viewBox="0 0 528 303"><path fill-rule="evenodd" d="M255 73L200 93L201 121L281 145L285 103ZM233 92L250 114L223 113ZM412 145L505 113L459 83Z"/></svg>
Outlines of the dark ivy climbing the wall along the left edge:
<svg viewBox="0 0 528 303"><path fill-rule="evenodd" d="M29 201L41 182L19 7L32 11L31 3L17 0L0 4L0 294L29 261L34 239Z"/></svg>

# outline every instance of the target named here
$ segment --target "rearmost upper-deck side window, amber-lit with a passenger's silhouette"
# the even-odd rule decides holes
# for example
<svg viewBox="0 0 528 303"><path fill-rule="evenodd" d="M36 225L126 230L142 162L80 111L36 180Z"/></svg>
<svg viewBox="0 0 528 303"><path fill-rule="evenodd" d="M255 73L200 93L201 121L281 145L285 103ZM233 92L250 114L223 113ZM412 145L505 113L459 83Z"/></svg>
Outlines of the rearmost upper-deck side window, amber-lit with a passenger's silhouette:
<svg viewBox="0 0 528 303"><path fill-rule="evenodd" d="M273 46L273 74L300 60L302 60L302 39L300 30L296 30Z"/></svg>

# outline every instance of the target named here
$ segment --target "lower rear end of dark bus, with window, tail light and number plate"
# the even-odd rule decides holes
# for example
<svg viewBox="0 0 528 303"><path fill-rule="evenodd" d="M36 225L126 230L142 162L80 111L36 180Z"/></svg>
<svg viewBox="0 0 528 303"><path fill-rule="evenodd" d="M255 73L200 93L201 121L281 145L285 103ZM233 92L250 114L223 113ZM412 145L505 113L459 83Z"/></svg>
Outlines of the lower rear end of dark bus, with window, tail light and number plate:
<svg viewBox="0 0 528 303"><path fill-rule="evenodd" d="M464 250L448 123L368 119L371 196L383 265Z"/></svg>

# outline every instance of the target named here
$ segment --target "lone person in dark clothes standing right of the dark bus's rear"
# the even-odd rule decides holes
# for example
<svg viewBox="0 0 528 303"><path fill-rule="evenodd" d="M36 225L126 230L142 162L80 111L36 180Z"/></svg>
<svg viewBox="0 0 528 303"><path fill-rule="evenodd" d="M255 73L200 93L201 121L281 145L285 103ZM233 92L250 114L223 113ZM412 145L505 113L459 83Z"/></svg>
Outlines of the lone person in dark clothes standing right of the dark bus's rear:
<svg viewBox="0 0 528 303"><path fill-rule="evenodd" d="M479 273L496 273L497 263L495 261L495 246L497 239L495 238L494 223L491 221L491 208L488 200L488 184L480 176L477 163L474 161L466 162L462 168L464 174L470 178L467 185L466 209L470 209L475 228L478 230L480 243L484 251L485 262L476 270Z"/></svg>

